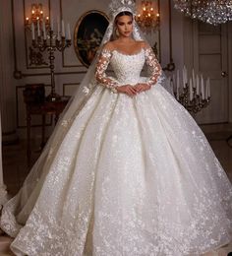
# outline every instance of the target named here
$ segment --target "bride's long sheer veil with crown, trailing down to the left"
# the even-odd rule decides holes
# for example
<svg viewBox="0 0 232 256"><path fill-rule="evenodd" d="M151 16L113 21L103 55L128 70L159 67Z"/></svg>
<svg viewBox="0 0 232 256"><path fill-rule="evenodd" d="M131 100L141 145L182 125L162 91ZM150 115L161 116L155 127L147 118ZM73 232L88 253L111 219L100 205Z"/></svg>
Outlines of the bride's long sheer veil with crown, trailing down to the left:
<svg viewBox="0 0 232 256"><path fill-rule="evenodd" d="M24 205L27 203L30 196L33 197L31 202L35 202L36 197L39 195L39 189L43 184L43 181L49 171L50 165L59 149L59 146L69 131L69 128L72 126L73 120L80 113L80 111L82 111L83 106L86 104L88 98L92 95L96 88L97 83L94 78L96 63L102 47L107 41L111 40L111 36L114 32L115 17L122 11L129 11L133 13L135 17L136 12L133 9L134 5L135 3L132 0L113 0L112 4L109 6L111 10L111 19L108 28L102 38L101 44L95 54L93 61L91 62L91 65L87 70L85 78L77 89L75 95L71 97L65 109L63 110L49 140L43 148L40 157L38 160L36 160L30 169L29 175L26 178L20 192L15 198L12 199L14 202L18 200L20 204L20 206L15 205L15 211L20 212ZM145 35L139 29L135 19L133 19L133 24L134 39L146 41ZM172 88L167 83L167 81L168 80L165 78L164 72L162 72L162 75L159 77L157 83L161 84L169 93L172 94ZM12 221L14 222L14 220Z"/></svg>

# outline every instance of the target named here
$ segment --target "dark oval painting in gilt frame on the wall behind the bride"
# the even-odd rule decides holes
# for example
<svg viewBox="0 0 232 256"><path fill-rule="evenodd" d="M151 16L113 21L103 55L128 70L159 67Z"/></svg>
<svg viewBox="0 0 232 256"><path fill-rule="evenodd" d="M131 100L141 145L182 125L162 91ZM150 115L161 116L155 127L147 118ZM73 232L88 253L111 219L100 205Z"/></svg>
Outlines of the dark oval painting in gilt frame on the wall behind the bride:
<svg viewBox="0 0 232 256"><path fill-rule="evenodd" d="M108 17L96 10L88 11L77 22L74 47L79 60L86 67L94 58L108 24Z"/></svg>

